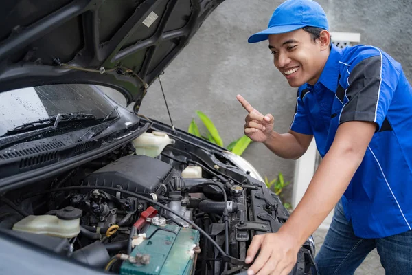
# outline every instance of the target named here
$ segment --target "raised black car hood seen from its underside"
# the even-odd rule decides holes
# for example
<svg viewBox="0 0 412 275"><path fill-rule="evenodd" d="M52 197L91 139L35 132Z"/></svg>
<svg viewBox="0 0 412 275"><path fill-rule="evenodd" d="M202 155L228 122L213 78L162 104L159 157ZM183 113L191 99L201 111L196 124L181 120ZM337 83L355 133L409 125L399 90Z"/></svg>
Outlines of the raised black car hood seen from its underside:
<svg viewBox="0 0 412 275"><path fill-rule="evenodd" d="M59 83L147 87L224 0L4 0L0 92Z"/></svg>

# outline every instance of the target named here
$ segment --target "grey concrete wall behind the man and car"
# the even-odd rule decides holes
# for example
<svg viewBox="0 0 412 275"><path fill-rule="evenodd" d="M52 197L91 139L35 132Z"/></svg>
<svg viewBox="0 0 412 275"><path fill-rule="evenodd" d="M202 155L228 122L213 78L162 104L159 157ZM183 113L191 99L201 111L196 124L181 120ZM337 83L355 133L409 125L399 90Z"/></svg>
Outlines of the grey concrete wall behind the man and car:
<svg viewBox="0 0 412 275"><path fill-rule="evenodd" d="M214 121L225 145L243 133L246 112L236 100L242 94L253 107L275 117L275 131L288 130L296 89L273 66L267 43L248 44L250 34L266 27L268 18L282 1L227 0L203 23L189 45L162 76L174 125L186 129L195 111L201 110ZM402 61L412 79L411 1L321 0L337 32L359 32L361 42L382 47ZM169 123L159 83L148 90L140 113ZM200 120L196 118L200 123ZM251 144L244 157L262 175L284 173L293 181L293 160L281 159L262 144ZM286 190L286 201L290 199Z"/></svg>

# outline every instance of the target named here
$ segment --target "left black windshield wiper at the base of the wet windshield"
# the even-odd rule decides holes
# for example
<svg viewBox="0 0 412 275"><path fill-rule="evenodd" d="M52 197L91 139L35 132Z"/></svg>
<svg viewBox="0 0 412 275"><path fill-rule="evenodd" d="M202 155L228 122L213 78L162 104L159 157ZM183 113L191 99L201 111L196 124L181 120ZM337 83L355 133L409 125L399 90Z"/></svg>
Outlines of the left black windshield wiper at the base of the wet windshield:
<svg viewBox="0 0 412 275"><path fill-rule="evenodd" d="M52 115L49 118L43 118L40 120L35 120L34 122L24 123L16 128L8 130L2 137L8 135L15 135L16 133L24 133L27 131L34 131L36 129L45 129L47 131L57 129L58 124L62 121L80 121L80 120L97 120L95 115L87 113L58 113L57 115ZM52 125L53 126L49 126ZM38 133L36 133L38 134Z"/></svg>

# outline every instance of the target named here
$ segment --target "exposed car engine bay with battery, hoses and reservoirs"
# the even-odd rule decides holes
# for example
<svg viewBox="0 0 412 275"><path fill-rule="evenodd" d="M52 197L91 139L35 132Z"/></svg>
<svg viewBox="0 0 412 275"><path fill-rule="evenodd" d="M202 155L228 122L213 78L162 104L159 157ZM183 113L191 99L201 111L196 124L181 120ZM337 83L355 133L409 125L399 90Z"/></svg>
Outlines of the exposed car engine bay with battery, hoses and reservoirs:
<svg viewBox="0 0 412 275"><path fill-rule="evenodd" d="M222 151L175 139L157 157L127 144L8 192L2 234L115 274L245 274L253 236L288 211ZM313 256L308 239L291 274L312 274Z"/></svg>

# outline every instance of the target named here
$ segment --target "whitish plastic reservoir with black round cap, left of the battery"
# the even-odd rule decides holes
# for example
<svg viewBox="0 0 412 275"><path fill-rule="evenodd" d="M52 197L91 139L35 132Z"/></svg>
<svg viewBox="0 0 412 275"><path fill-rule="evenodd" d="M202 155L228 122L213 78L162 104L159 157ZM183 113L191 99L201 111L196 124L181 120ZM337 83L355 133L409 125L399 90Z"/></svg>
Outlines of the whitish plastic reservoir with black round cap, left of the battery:
<svg viewBox="0 0 412 275"><path fill-rule="evenodd" d="M14 223L13 230L32 234L47 234L60 238L73 238L80 233L82 210L67 206L58 211L56 216L28 216Z"/></svg>

